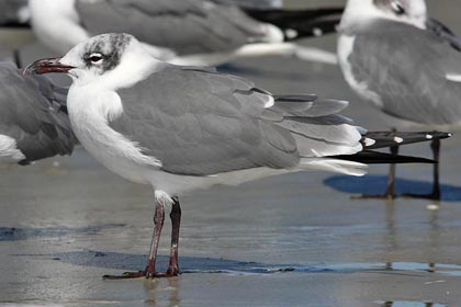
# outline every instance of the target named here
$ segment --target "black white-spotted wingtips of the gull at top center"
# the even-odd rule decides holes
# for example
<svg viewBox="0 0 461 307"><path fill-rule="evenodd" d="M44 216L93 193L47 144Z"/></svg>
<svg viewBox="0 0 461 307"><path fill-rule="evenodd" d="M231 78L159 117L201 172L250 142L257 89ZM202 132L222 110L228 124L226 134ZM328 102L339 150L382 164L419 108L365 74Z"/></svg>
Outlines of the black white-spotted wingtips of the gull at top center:
<svg viewBox="0 0 461 307"><path fill-rule="evenodd" d="M245 12L251 18L280 27L286 42L336 32L342 11L344 8L311 10L245 9Z"/></svg>

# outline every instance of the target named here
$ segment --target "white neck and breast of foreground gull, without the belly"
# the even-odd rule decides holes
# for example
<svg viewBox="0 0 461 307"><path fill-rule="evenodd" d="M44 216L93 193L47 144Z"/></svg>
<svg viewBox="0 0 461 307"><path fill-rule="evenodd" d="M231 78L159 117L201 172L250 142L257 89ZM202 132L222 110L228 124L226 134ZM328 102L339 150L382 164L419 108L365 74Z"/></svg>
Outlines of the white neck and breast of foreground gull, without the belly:
<svg viewBox="0 0 461 307"><path fill-rule="evenodd" d="M134 182L147 183L144 168L158 169L161 162L110 127L123 114L116 90L144 80L162 65L142 53L124 55L121 65L103 76L74 77L67 98L70 124L83 147L108 169Z"/></svg>

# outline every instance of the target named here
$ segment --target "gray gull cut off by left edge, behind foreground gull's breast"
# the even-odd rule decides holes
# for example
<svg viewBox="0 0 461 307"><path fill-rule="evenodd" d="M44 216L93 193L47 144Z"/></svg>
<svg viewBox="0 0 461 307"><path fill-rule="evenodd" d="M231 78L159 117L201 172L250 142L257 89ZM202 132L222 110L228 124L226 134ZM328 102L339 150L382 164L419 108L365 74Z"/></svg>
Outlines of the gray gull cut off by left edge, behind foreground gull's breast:
<svg viewBox="0 0 461 307"><path fill-rule="evenodd" d="M65 111L67 90L0 62L0 158L29 164L70 155L76 138Z"/></svg>

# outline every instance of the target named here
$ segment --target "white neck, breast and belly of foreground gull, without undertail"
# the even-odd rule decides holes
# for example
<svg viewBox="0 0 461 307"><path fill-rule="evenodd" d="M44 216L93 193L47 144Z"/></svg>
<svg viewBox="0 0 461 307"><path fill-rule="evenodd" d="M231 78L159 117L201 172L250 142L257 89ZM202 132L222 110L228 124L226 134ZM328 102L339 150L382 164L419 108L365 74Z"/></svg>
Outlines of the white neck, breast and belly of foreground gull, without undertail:
<svg viewBox="0 0 461 307"><path fill-rule="evenodd" d="M67 107L75 134L83 147L109 170L133 182L150 184L156 191L164 191L169 195L217 183L236 184L246 181L245 179L288 172L261 168L218 175L184 177L161 171L161 161L143 155L136 144L113 130L108 124L123 111L115 90L143 80L145 73L155 70L155 66L159 64L142 50L131 56L133 60L125 58L122 64L126 68L123 70L125 78L120 78L117 73L111 76L112 72L109 72L102 82L75 79L68 94ZM143 66L136 65L138 62ZM119 80L130 81L120 83Z"/></svg>

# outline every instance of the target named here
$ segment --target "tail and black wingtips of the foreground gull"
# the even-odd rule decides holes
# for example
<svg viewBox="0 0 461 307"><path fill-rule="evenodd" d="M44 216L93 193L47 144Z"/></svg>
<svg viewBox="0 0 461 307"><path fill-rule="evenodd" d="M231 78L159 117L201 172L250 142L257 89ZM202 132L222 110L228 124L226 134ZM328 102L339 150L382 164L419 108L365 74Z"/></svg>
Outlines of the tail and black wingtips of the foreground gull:
<svg viewBox="0 0 461 307"><path fill-rule="evenodd" d="M301 157L301 168L351 175L364 174L366 164L436 163L430 159L376 152L372 149L451 136L439 132L367 132L339 115L347 105L346 101L319 100L316 95L274 95L262 117L291 133Z"/></svg>

